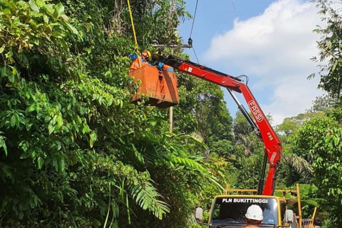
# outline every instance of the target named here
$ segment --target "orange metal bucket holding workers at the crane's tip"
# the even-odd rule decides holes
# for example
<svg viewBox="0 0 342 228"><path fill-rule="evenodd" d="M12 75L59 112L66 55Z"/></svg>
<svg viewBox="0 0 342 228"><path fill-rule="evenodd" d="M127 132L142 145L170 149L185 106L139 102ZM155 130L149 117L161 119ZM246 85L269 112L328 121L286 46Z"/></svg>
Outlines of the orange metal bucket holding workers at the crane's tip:
<svg viewBox="0 0 342 228"><path fill-rule="evenodd" d="M159 71L154 66L145 65L131 71L134 81L141 80L140 88L131 98L132 103L142 99L142 94L148 96L145 104L158 108L168 108L179 104L177 77L173 72Z"/></svg>

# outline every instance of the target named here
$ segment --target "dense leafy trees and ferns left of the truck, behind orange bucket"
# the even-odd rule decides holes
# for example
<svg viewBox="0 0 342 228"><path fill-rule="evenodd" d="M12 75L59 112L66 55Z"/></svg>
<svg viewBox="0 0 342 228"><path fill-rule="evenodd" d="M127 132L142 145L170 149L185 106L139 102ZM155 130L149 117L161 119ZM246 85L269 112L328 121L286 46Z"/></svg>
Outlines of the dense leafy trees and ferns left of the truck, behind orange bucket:
<svg viewBox="0 0 342 228"><path fill-rule="evenodd" d="M169 1L131 3L146 47L189 16L183 1L171 24ZM222 189L207 146L184 134L194 115L171 134L166 111L130 104L127 13L126 1L0 0L1 227L180 227L194 193Z"/></svg>

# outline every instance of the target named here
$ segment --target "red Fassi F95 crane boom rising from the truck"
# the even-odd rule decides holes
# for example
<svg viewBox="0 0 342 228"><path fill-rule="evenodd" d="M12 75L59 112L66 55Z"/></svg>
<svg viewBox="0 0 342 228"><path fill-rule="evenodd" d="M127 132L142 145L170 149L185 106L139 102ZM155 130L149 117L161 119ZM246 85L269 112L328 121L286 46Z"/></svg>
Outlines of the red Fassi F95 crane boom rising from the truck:
<svg viewBox="0 0 342 228"><path fill-rule="evenodd" d="M272 196L275 189L276 184L276 174L277 169L280 163L280 155L281 155L281 143L280 139L274 132L272 126L269 124L268 120L266 119L265 114L261 110L258 102L255 100L253 94L249 90L246 84L242 82L240 77L233 77L230 75L227 75L225 73L213 70L211 68L193 63L191 61L187 61L185 59L179 58L174 55L159 55L154 54L152 55L152 58L156 61L162 62L166 65L172 66L173 68L196 76L200 79L218 84L222 87L227 88L228 92L232 95L234 101L238 105L238 108L242 112L242 114L247 119L248 123L251 125L255 133L258 135L260 140L265 145L265 157L264 157L264 163L263 163L263 169L261 173L261 178L259 182L258 187L258 195L266 195L266 196ZM247 78L247 76L245 76ZM248 78L247 78L248 79ZM232 92L238 92L241 93L246 103L248 104L248 107L252 113L252 116L254 118L251 119L251 117L248 115L248 112L244 108L244 106L241 105L241 103L238 101L234 93ZM264 176L265 176L265 170L267 161L269 164L269 170L266 178L266 182L264 185Z"/></svg>

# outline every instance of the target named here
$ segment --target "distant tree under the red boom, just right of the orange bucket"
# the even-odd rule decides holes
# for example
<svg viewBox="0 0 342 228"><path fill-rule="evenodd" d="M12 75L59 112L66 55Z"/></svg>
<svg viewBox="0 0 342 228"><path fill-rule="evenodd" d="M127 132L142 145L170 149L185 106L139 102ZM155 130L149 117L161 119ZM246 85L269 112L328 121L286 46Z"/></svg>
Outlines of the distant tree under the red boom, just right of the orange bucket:
<svg viewBox="0 0 342 228"><path fill-rule="evenodd" d="M177 76L180 105L175 108L176 128L186 130L197 126L198 133L209 146L212 142L222 139L232 141L233 119L223 101L223 91L220 87L184 73ZM177 117L187 118L179 120Z"/></svg>

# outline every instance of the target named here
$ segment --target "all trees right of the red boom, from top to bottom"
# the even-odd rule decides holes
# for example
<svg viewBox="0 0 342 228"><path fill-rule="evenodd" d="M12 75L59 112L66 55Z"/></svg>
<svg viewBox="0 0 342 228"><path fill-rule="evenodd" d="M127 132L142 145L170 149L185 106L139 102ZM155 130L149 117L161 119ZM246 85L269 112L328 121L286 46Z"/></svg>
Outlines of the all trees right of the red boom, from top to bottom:
<svg viewBox="0 0 342 228"><path fill-rule="evenodd" d="M314 183L317 195L307 199L308 204L319 206L325 219L323 227L341 224L341 15L336 4L328 0L312 1L319 8L324 27L314 32L321 35L317 41L318 56L312 60L319 65L318 87L327 92L316 97L311 109L300 117L286 119L277 127L285 139L285 157L291 161L288 178L291 182ZM315 73L308 78L315 77ZM303 117L305 117L303 119ZM300 120L301 122L298 122ZM304 120L304 121L303 121ZM313 172L312 172L313 171ZM293 175L294 174L294 175ZM323 200L315 201L315 198ZM318 203L317 203L318 202Z"/></svg>

